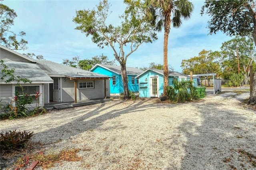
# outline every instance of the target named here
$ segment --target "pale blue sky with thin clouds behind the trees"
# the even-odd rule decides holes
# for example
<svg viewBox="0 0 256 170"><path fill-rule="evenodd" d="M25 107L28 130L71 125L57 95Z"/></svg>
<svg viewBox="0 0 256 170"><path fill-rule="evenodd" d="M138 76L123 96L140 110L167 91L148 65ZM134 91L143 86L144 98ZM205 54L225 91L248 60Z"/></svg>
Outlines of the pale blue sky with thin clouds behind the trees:
<svg viewBox="0 0 256 170"><path fill-rule="evenodd" d="M183 20L181 28L171 28L168 39L168 64L174 71L182 72L182 59L198 56L205 50L220 51L222 43L231 40L222 32L208 35L207 28L210 17L200 15L204 0L190 0L194 11L189 20ZM122 14L125 5L122 0L109 0L112 13L108 23L118 23L118 15ZM80 30L75 30L72 21L76 10L93 9L98 0L1 0L0 3L13 9L17 17L11 30L15 33L26 32L24 39L28 41L28 49L19 53L43 55L44 59L62 63L63 59L79 56L80 60L94 56L106 55L114 59L111 47L100 49L91 37ZM163 64L164 30L158 33L158 40L142 44L127 59L127 67L149 67L151 62ZM130 51L127 51L128 53ZM119 63L116 61L116 65Z"/></svg>

